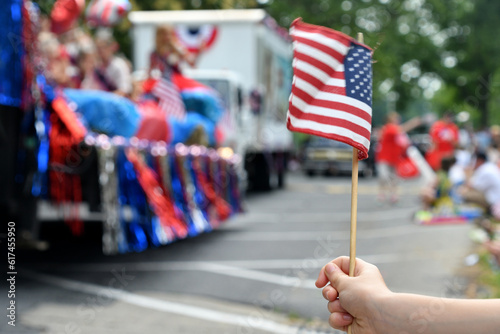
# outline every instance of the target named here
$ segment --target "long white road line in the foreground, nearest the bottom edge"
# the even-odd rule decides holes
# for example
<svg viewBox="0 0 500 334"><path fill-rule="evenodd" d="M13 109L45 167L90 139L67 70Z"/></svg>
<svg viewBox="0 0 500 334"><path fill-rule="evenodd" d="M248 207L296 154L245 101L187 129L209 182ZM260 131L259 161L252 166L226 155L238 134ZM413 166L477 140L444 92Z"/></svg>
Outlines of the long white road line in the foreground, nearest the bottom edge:
<svg viewBox="0 0 500 334"><path fill-rule="evenodd" d="M223 323L244 328L253 328L271 333L298 333L299 328L277 323L268 319L259 318L258 321L252 316L216 311L212 309L186 305L166 300L155 299L147 296L141 296L124 290L99 286L96 284L84 283L75 280L69 280L57 276L29 272L31 279L39 282L63 288L70 291L86 293L91 295L103 296L118 300L130 305L139 306L160 312L167 312L197 318L206 321Z"/></svg>

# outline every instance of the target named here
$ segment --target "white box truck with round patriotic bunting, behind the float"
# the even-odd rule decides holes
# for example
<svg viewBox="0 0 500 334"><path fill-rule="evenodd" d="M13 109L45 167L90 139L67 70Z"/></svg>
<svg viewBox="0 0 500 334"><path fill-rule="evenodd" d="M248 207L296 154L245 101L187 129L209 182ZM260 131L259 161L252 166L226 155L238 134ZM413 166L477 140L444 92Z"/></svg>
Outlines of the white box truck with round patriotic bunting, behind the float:
<svg viewBox="0 0 500 334"><path fill-rule="evenodd" d="M228 115L224 146L244 161L248 189L284 185L292 134L286 111L292 83L292 46L286 31L262 9L136 11L134 70L147 70L156 28L171 25L190 48L203 45L195 69L183 73L219 91Z"/></svg>

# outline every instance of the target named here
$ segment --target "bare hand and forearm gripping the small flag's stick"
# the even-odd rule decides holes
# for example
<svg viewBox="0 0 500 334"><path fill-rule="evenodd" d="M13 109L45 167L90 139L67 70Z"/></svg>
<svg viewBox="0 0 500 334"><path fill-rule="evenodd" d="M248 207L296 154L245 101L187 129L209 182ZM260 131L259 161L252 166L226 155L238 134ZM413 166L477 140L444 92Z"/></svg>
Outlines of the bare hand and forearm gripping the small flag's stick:
<svg viewBox="0 0 500 334"><path fill-rule="evenodd" d="M345 331L352 325L353 334L493 334L500 330L499 299L393 293L378 269L359 259L355 277L348 277L348 271L348 258L340 257L323 267L316 281L317 287L324 287L333 328Z"/></svg>

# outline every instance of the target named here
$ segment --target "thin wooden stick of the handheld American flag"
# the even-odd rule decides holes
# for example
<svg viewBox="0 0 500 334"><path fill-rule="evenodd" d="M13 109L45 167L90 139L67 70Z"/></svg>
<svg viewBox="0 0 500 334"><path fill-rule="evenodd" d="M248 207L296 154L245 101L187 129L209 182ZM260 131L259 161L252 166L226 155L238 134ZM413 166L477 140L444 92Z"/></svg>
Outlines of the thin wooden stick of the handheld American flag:
<svg viewBox="0 0 500 334"><path fill-rule="evenodd" d="M357 40L364 43L363 34L358 32ZM351 184L351 237L349 248L349 276L354 276L356 268L356 231L358 222L358 150L352 149L352 184ZM347 328L347 334L352 334L352 328Z"/></svg>

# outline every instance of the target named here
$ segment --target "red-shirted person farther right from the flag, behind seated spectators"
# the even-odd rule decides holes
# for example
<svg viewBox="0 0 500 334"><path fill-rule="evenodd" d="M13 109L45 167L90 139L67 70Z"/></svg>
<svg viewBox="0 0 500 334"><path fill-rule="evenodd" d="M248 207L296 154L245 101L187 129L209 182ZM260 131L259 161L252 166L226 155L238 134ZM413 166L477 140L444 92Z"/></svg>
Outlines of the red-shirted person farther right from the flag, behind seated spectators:
<svg viewBox="0 0 500 334"><path fill-rule="evenodd" d="M459 130L453 123L453 114L446 112L442 119L431 126L429 134L433 147L427 152L425 159L437 171L441 168L441 160L454 155L458 145Z"/></svg>

